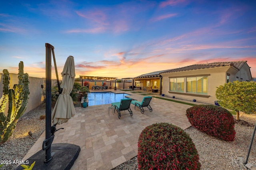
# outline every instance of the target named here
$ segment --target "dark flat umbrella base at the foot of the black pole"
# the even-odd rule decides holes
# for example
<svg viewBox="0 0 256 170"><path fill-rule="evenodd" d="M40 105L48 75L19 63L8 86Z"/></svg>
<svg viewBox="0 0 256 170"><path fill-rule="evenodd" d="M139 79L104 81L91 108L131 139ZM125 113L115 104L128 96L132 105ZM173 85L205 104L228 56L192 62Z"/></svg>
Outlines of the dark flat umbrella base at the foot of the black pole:
<svg viewBox="0 0 256 170"><path fill-rule="evenodd" d="M40 150L32 155L27 160L30 166L34 161L36 161L33 169L35 170L69 170L76 158L79 155L80 147L78 145L73 145L69 143L56 143L52 144L52 160L50 162L44 163L45 160L45 150ZM25 161L26 162L26 161ZM15 170L23 170L22 166L18 166Z"/></svg>

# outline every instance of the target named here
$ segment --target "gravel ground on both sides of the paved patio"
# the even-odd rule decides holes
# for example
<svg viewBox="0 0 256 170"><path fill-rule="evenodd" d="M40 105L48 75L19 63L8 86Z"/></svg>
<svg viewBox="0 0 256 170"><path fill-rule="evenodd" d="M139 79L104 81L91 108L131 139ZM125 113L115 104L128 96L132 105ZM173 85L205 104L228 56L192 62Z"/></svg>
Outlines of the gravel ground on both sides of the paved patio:
<svg viewBox="0 0 256 170"><path fill-rule="evenodd" d="M18 121L12 137L0 145L0 160L22 160L28 150L45 130L45 119L40 120L40 115L45 115L45 104L26 113ZM240 123L235 124L236 138L233 142L225 142L204 133L194 127L185 130L190 135L199 154L202 170L246 170L240 158L246 159L256 115L240 115ZM32 131L30 137L28 131ZM256 165L256 139L248 159L248 163ZM16 164L2 166L1 170L12 170ZM136 170L137 157L132 158L114 168L114 170Z"/></svg>

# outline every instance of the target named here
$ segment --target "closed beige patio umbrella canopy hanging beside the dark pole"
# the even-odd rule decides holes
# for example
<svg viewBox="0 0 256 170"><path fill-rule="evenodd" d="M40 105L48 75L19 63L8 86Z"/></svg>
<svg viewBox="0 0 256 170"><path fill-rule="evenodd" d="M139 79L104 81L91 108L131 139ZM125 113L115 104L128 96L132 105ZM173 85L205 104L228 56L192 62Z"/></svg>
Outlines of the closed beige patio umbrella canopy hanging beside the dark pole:
<svg viewBox="0 0 256 170"><path fill-rule="evenodd" d="M58 96L58 100L52 111L53 125L65 123L76 114L73 100L70 96L76 76L73 56L69 56L66 60L61 75L62 83L60 84L60 88L62 88L62 93Z"/></svg>

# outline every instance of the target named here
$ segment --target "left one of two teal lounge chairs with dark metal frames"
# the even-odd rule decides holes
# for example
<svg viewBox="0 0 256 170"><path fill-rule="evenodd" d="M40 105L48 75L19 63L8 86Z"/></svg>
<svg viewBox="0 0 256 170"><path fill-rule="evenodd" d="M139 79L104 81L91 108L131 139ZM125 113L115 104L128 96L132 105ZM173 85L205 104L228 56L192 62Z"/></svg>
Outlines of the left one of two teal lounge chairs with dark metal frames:
<svg viewBox="0 0 256 170"><path fill-rule="evenodd" d="M125 111L128 110L130 115L132 116L132 110L130 109L130 104L132 102L132 99L121 99L120 102L114 102L112 103L112 107L114 107L114 112L117 111L118 112L118 119L120 119L121 117L121 113L120 111ZM129 114L127 113L127 114ZM127 115L127 114L123 114L123 115Z"/></svg>

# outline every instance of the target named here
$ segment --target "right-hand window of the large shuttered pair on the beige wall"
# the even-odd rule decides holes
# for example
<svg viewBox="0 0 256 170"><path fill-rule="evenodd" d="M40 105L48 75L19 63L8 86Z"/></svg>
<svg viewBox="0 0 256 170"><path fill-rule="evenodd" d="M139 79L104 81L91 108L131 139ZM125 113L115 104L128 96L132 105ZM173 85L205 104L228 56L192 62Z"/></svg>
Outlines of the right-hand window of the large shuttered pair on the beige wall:
<svg viewBox="0 0 256 170"><path fill-rule="evenodd" d="M188 77L187 92L207 94L208 93L208 76Z"/></svg>

